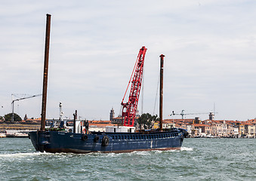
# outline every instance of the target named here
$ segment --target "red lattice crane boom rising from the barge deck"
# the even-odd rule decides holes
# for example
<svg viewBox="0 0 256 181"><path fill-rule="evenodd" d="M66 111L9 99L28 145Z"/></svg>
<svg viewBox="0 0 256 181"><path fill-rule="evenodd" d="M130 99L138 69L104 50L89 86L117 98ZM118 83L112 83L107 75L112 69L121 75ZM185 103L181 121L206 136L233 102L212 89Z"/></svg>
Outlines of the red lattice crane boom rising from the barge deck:
<svg viewBox="0 0 256 181"><path fill-rule="evenodd" d="M137 55L137 60L131 73L132 81L130 78L128 86L125 90L126 95L128 87L131 84L131 91L128 98L128 103L124 103L125 96L122 98L122 122L123 125L127 127L134 126L134 118L137 112L137 103L140 97L140 87L142 83L143 65L146 51L147 48L142 47L140 48L139 54Z"/></svg>

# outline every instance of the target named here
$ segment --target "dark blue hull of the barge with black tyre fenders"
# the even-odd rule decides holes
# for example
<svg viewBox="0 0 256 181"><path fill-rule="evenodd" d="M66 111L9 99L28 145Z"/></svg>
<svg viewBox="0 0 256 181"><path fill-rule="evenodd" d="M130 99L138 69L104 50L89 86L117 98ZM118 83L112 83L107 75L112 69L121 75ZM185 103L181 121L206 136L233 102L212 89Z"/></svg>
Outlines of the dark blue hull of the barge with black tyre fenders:
<svg viewBox="0 0 256 181"><path fill-rule="evenodd" d="M186 133L181 130L152 133L64 133L32 131L29 139L40 152L133 152L180 149Z"/></svg>

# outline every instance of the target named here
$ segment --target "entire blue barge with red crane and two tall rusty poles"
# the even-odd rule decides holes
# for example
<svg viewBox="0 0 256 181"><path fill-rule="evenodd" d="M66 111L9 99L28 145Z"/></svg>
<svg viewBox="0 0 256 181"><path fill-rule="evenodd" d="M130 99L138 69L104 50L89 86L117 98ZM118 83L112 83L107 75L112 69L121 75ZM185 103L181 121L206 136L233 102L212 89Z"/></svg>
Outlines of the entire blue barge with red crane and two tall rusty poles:
<svg viewBox="0 0 256 181"><path fill-rule="evenodd" d="M48 54L50 39L51 15L47 14L46 38L45 38L45 69L42 97L42 122L41 129L29 132L29 139L37 151L40 152L133 152L149 150L180 149L184 137L187 137L187 130L173 128L162 129L162 96L163 96L163 60L160 55L160 103L159 103L159 129L157 130L135 130L134 117L137 112L137 103L140 96L142 84L143 63L147 48L140 48L137 61L134 66L129 84L131 90L128 102L122 99L122 120L123 126L106 127L106 132L89 132L88 125L84 121L77 121L77 113L74 114L73 126L71 129L45 130L45 112L48 81ZM128 84L128 87L129 87ZM125 90L125 94L128 90ZM63 122L61 127L66 127Z"/></svg>

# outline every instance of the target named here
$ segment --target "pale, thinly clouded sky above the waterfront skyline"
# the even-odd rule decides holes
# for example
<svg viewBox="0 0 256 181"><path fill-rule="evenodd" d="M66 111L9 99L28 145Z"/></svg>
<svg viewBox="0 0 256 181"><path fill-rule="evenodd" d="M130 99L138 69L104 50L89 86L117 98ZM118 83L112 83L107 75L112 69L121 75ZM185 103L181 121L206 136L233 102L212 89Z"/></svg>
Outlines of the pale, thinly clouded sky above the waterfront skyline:
<svg viewBox="0 0 256 181"><path fill-rule="evenodd" d="M137 54L146 46L139 112L159 115L159 55L165 55L163 118L256 117L256 2L246 0L1 1L0 115L42 94L46 14L51 14L47 118L116 116ZM11 96L15 94L15 96ZM26 95L25 95L26 94ZM126 97L125 101L128 101ZM41 117L42 97L14 102ZM174 111L177 115L169 116Z"/></svg>

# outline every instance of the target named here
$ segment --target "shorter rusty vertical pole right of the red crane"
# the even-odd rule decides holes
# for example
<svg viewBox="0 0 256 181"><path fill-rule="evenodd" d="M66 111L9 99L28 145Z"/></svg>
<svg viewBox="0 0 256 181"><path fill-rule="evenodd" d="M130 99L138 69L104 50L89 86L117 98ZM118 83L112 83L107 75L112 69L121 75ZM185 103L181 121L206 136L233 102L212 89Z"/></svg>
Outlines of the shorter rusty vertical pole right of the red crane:
<svg viewBox="0 0 256 181"><path fill-rule="evenodd" d="M164 74L164 57L165 55L160 55L160 101L159 101L159 130L162 131L162 97L164 94L163 90L163 74Z"/></svg>

